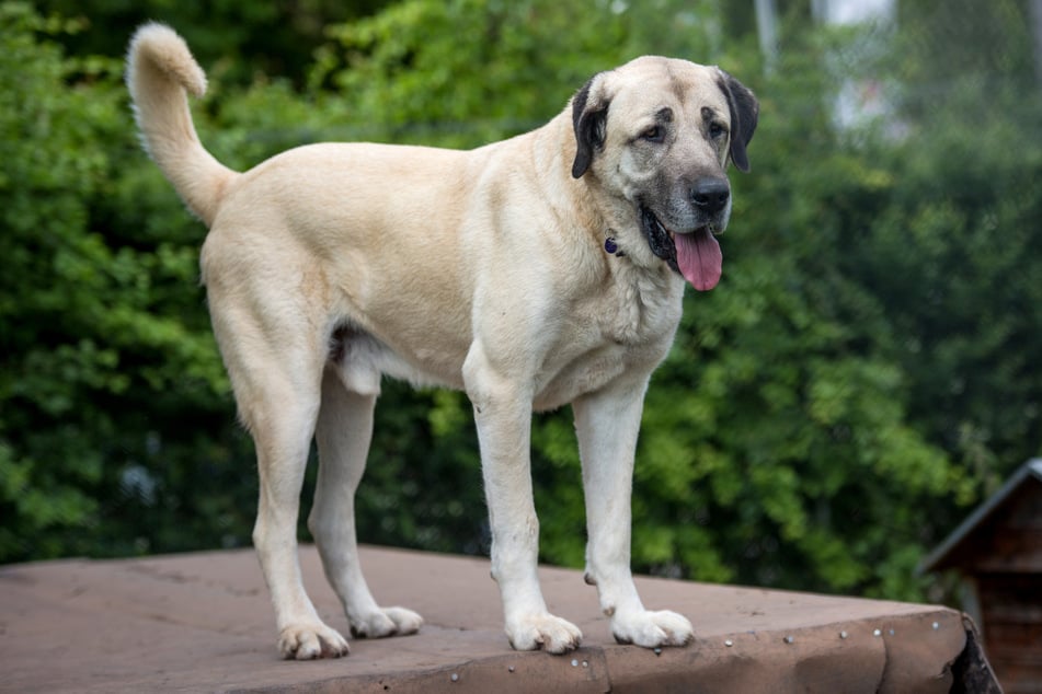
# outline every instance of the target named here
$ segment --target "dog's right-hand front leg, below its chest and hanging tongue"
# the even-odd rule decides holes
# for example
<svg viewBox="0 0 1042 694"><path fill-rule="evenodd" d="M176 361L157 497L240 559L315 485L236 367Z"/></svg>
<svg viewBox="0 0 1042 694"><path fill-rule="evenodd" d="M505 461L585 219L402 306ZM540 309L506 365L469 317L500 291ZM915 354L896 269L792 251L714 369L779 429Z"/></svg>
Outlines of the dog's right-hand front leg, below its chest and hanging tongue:
<svg viewBox="0 0 1042 694"><path fill-rule="evenodd" d="M574 403L586 496L586 581L621 644L683 646L691 623L675 612L644 609L630 572L633 455L648 379L620 379Z"/></svg>

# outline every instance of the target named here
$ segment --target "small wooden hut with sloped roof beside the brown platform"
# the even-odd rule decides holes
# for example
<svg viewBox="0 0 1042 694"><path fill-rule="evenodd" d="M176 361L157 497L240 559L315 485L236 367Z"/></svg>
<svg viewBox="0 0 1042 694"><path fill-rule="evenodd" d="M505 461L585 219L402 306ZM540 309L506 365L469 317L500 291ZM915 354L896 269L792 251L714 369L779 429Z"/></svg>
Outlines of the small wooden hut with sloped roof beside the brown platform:
<svg viewBox="0 0 1042 694"><path fill-rule="evenodd" d="M1042 459L1014 473L923 569L962 575L966 611L1005 691L1042 692Z"/></svg>

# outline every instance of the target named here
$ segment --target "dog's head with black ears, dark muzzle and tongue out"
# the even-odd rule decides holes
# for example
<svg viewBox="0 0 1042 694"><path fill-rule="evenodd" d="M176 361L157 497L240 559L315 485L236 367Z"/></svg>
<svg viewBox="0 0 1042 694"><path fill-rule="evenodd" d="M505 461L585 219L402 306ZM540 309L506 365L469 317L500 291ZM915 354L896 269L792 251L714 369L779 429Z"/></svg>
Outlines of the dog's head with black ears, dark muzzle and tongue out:
<svg viewBox="0 0 1042 694"><path fill-rule="evenodd" d="M627 254L712 289L722 263L714 234L731 217L728 160L748 171L758 113L753 92L720 68L638 58L572 99L572 176L600 192Z"/></svg>

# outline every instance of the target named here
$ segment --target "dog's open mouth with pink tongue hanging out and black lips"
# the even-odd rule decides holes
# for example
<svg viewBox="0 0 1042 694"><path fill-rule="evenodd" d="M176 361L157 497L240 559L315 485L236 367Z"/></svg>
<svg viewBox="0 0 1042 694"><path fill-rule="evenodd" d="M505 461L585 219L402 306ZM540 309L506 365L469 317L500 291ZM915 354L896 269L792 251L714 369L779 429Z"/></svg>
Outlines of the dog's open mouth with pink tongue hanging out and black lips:
<svg viewBox="0 0 1042 694"><path fill-rule="evenodd" d="M646 206L640 206L640 227L651 252L679 273L691 287L709 291L720 281L723 254L713 236L712 224L687 232L665 228Z"/></svg>

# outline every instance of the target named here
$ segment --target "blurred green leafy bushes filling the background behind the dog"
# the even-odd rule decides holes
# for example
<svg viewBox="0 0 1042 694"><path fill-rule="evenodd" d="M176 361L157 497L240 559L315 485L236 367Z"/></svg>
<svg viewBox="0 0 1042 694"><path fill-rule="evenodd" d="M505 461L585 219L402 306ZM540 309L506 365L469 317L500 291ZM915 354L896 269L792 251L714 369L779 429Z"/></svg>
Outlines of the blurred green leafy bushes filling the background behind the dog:
<svg viewBox="0 0 1042 694"><path fill-rule="evenodd" d="M1042 450L1040 3L847 4L0 2L0 562L250 543L205 229L122 84L157 19L208 71L197 127L239 169L317 140L473 147L644 53L738 77L762 102L753 172L732 176L723 281L688 294L652 381L635 568L943 598L918 560ZM571 414L533 438L541 557L581 566ZM360 539L486 552L478 465L463 396L386 383Z"/></svg>

